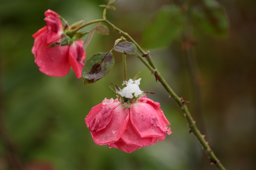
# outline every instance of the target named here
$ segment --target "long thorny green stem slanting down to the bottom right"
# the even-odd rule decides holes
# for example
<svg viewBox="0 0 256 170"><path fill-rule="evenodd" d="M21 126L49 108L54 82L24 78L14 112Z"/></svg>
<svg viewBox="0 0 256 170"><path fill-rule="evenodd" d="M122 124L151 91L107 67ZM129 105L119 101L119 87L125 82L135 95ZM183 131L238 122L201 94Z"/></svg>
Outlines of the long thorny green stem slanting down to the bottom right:
<svg viewBox="0 0 256 170"><path fill-rule="evenodd" d="M147 53L141 48L141 46L139 46L139 44L134 41L134 39L126 32L122 31L121 29L117 28L115 25L113 25L111 22L109 22L108 20L104 20L104 22L106 22L107 24L109 24L110 26L113 27L113 29L119 31L120 33L122 33L124 36L126 36L128 39L130 39L131 42L133 42L137 48L139 49L139 51L145 56ZM148 54L148 56L150 57L150 55ZM215 167L219 170L226 170L225 167L220 163L220 161L218 160L218 158L215 156L215 154L213 153L212 149L210 148L210 146L208 145L208 142L205 140L205 135L202 135L199 131L199 129L197 128L197 126L195 125L195 121L193 120L191 114L189 113L188 109L187 109L187 103L185 101L183 101L182 98L178 97L177 94L172 90L172 88L170 88L170 86L166 83L166 81L164 80L164 78L160 75L160 72L158 72L156 70L156 67L150 57L150 59L148 59L149 62L147 62L141 55L137 56L144 65L146 65L146 67L148 67L148 69L151 71L152 74L154 74L156 76L156 80L159 80L159 82L162 84L162 86L165 88L165 90L167 91L167 93L172 97L172 99L174 99L174 101L177 103L177 105L179 105L181 111L183 112L183 115L185 117L185 119L188 122L189 128L191 129L191 132L195 135L195 137L197 138L197 140L199 141L199 143L201 144L202 148L204 149L205 153L207 154L207 156L211 159L211 162L215 165Z"/></svg>

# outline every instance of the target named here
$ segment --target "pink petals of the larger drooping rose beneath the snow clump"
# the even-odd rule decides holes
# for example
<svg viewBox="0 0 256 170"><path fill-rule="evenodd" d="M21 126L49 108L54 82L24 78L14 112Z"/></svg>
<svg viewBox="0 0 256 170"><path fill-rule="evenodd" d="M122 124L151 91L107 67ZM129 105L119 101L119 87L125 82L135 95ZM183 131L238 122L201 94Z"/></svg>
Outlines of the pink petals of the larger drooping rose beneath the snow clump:
<svg viewBox="0 0 256 170"><path fill-rule="evenodd" d="M163 141L172 133L160 104L143 95L127 109L117 99L104 99L93 107L85 123L98 145L120 148L131 153Z"/></svg>

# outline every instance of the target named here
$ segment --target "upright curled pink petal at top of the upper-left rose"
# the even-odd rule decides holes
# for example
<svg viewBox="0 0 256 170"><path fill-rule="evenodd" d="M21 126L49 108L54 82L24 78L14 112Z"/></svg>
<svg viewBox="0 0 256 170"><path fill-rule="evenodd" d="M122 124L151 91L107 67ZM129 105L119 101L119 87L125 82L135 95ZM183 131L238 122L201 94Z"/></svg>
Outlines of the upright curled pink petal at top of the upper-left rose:
<svg viewBox="0 0 256 170"><path fill-rule="evenodd" d="M45 22L46 22L46 27L47 27L47 43L51 42L58 42L61 40L61 34L63 33L63 25L61 20L59 19L59 14L52 10L47 10L44 15L45 17Z"/></svg>

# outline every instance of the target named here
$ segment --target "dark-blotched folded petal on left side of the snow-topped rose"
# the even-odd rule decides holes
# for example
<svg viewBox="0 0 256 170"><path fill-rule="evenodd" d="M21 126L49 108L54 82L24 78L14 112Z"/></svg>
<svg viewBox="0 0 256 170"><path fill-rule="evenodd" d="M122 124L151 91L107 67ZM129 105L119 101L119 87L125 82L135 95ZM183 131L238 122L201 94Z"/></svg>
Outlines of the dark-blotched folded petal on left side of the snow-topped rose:
<svg viewBox="0 0 256 170"><path fill-rule="evenodd" d="M113 109L115 109L118 105L119 103L111 103L103 107L103 109L96 114L92 122L89 124L90 131L97 132L106 128L112 118Z"/></svg>

